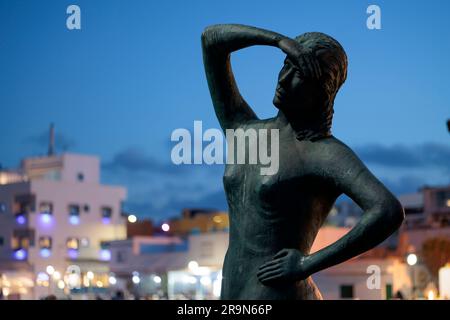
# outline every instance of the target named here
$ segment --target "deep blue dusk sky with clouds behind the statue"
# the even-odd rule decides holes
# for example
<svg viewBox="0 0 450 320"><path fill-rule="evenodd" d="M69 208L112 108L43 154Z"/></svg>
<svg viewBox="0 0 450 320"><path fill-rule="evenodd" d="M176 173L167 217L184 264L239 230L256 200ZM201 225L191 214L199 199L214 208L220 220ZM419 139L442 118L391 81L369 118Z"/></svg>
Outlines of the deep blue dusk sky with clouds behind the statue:
<svg viewBox="0 0 450 320"><path fill-rule="evenodd" d="M81 30L66 9L81 8ZM381 30L366 27L370 4ZM218 128L200 35L211 24L294 37L321 31L345 48L348 78L333 134L396 194L450 183L449 1L0 0L0 163L57 151L98 155L102 182L128 189L127 210L156 220L184 207L226 209L223 166L171 163L174 129ZM260 118L284 55L233 54L241 93Z"/></svg>

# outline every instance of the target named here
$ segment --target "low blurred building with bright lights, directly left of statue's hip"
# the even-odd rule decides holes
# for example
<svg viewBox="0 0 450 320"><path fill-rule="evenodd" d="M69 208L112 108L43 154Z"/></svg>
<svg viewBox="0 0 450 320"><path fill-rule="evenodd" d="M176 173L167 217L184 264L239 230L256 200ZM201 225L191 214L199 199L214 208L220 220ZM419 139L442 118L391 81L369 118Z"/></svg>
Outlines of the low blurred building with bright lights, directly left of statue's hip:
<svg viewBox="0 0 450 320"><path fill-rule="evenodd" d="M134 237L110 243L112 289L133 296L217 299L228 232Z"/></svg>

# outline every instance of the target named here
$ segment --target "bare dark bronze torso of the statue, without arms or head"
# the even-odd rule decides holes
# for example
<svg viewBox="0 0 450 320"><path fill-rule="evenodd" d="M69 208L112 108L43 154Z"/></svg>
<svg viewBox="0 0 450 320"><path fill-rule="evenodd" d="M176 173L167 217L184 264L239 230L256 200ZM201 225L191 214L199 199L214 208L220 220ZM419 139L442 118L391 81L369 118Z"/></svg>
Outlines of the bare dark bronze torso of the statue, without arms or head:
<svg viewBox="0 0 450 320"><path fill-rule="evenodd" d="M315 169L314 158L323 152L317 150L322 148L319 143L298 141L280 130L279 144L279 170L274 175L262 176L259 164L226 166L223 182L230 244L224 262L223 299L320 297L311 279L275 288L256 277L259 266L283 248L309 253L337 196Z"/></svg>

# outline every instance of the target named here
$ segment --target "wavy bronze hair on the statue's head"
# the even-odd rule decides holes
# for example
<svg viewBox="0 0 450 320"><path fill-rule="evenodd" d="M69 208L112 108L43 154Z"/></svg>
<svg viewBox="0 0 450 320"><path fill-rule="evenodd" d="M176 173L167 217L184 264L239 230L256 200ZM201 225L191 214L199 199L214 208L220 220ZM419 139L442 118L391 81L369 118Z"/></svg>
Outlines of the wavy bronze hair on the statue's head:
<svg viewBox="0 0 450 320"><path fill-rule="evenodd" d="M347 55L337 40L321 32L307 32L295 40L313 52L322 70L320 83L325 96L324 109L317 110L320 114L317 119L318 127L314 131L318 136L329 135L333 121L334 98L347 78Z"/></svg>

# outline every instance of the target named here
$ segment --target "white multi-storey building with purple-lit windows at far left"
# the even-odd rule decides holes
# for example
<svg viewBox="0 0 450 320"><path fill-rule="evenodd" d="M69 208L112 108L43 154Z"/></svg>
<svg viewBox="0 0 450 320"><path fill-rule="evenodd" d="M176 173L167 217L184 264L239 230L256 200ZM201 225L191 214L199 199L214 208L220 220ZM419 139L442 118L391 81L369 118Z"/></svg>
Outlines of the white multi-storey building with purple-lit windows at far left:
<svg viewBox="0 0 450 320"><path fill-rule="evenodd" d="M19 172L21 179L17 173L0 172L3 293L40 298L106 286L110 251L103 244L126 238L121 212L126 190L100 184L100 163L94 156L27 158ZM8 267L12 262L31 275L25 289L24 283L13 286L24 272Z"/></svg>

